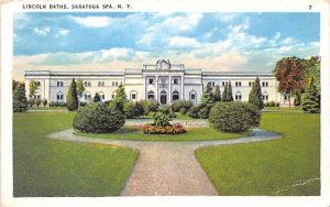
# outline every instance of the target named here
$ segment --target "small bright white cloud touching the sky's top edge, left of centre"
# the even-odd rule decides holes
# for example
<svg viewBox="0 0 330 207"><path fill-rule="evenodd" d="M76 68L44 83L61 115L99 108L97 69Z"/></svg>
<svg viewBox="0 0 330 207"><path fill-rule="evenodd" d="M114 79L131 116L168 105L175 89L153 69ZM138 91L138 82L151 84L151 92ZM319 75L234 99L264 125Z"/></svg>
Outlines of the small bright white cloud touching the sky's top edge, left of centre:
<svg viewBox="0 0 330 207"><path fill-rule="evenodd" d="M70 19L85 28L106 28L109 26L112 21L109 17L70 17Z"/></svg>

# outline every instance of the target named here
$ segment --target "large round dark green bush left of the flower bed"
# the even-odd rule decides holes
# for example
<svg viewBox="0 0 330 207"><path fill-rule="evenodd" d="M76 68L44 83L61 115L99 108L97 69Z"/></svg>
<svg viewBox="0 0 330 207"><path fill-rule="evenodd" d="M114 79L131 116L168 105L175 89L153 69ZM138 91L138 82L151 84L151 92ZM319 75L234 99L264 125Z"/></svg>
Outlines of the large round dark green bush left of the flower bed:
<svg viewBox="0 0 330 207"><path fill-rule="evenodd" d="M80 107L73 128L87 133L106 133L120 129L125 123L124 113L112 103L90 103Z"/></svg>

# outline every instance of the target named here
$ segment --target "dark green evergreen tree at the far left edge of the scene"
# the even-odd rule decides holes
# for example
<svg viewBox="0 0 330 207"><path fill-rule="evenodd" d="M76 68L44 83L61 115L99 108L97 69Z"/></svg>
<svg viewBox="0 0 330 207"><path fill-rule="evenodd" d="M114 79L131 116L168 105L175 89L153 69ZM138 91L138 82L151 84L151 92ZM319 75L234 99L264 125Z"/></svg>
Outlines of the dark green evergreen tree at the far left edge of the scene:
<svg viewBox="0 0 330 207"><path fill-rule="evenodd" d="M18 83L12 94L13 112L24 112L28 110L28 100L25 96L25 85Z"/></svg>

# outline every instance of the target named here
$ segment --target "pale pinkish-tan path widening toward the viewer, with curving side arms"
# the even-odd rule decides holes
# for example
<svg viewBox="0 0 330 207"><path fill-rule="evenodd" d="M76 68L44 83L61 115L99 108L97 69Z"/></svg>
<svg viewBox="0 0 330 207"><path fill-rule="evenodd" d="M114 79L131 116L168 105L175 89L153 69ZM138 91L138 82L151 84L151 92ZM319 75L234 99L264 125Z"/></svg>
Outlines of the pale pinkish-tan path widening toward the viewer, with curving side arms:
<svg viewBox="0 0 330 207"><path fill-rule="evenodd" d="M217 141L128 141L87 138L73 134L73 129L48 137L85 143L102 143L138 149L140 156L122 190L123 196L218 195L195 157L200 146L239 144L279 139L280 135L255 129L248 138Z"/></svg>

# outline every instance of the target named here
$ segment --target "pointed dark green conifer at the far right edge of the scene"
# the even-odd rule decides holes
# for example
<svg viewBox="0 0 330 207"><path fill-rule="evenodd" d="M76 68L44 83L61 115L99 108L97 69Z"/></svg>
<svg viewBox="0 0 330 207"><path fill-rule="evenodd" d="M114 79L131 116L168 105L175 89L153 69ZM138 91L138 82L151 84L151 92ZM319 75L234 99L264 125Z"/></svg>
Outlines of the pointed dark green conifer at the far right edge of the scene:
<svg viewBox="0 0 330 207"><path fill-rule="evenodd" d="M309 87L302 96L302 110L310 113L320 112L320 97L318 95L317 86L311 78Z"/></svg>

